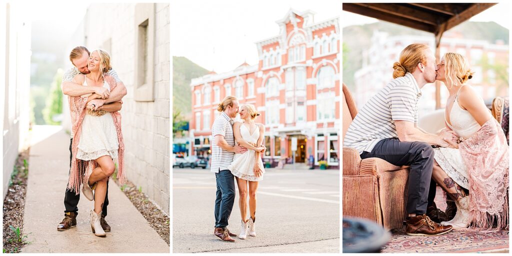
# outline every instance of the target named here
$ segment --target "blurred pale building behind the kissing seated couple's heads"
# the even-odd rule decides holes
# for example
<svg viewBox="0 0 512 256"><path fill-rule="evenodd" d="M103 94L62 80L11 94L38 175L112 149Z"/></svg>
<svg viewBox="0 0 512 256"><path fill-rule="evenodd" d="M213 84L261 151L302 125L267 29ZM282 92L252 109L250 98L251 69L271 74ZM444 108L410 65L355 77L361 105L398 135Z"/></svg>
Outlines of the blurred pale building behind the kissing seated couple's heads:
<svg viewBox="0 0 512 256"><path fill-rule="evenodd" d="M353 95L357 106L362 107L393 79L393 63L398 61L400 52L411 43L424 43L435 49L432 36L389 36L388 33L374 31L370 49L363 52L362 67L354 74L356 91ZM489 42L464 39L460 33L446 32L441 40L440 56L447 52L459 53L470 63L470 68L475 74L467 83L471 84L484 100L508 96L508 85L500 86L495 69L497 63L508 66L508 45L502 40ZM423 96L419 104L420 115L435 110L436 107L435 85L426 84L421 91ZM441 83L442 107L447 96L448 91Z"/></svg>

